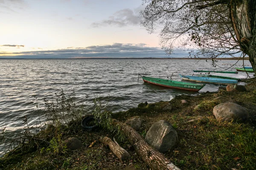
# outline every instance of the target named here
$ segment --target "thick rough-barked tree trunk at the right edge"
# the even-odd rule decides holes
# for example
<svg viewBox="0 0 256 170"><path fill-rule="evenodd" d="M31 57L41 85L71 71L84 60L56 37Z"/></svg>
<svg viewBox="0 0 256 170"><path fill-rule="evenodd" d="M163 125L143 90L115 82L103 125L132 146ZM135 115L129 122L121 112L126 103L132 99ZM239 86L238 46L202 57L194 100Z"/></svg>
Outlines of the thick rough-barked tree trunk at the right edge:
<svg viewBox="0 0 256 170"><path fill-rule="evenodd" d="M230 16L237 41L256 73L256 0L231 0Z"/></svg>

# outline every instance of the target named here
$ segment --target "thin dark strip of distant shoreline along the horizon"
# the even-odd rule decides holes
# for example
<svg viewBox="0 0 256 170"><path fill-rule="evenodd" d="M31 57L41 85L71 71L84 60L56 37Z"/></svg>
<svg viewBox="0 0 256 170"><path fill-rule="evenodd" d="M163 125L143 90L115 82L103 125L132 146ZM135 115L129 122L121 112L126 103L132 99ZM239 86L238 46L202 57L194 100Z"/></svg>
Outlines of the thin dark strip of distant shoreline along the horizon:
<svg viewBox="0 0 256 170"><path fill-rule="evenodd" d="M0 59L205 59L205 60L212 60L212 58L188 58L188 57L161 57L161 58L155 58L155 57L81 57L81 58L0 58ZM240 57L230 57L230 58L214 58L213 60L242 60ZM244 57L244 60L249 60L249 57Z"/></svg>

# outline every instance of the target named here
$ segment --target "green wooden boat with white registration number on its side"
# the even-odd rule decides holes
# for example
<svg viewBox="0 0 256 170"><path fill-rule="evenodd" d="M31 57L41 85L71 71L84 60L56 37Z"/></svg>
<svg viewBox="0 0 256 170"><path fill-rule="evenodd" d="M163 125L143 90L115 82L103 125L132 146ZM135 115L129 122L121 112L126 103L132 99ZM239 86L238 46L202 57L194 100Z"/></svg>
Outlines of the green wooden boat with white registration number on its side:
<svg viewBox="0 0 256 170"><path fill-rule="evenodd" d="M187 83L187 82L178 82L174 80L168 80L168 79L159 79L159 78L153 78L153 77L142 77L144 82L153 84L153 85L159 85L166 88L177 88L181 90L186 91L200 91L205 84L193 84L193 83Z"/></svg>

